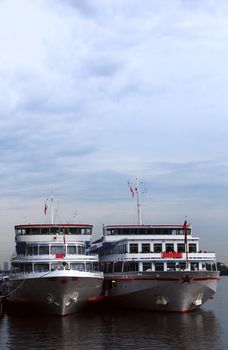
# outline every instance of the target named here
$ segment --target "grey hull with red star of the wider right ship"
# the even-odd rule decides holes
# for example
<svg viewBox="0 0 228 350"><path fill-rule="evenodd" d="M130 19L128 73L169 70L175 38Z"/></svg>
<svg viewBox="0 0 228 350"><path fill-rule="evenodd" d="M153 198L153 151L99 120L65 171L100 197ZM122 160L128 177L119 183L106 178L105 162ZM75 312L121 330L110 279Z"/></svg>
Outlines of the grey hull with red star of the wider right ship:
<svg viewBox="0 0 228 350"><path fill-rule="evenodd" d="M105 274L104 301L122 307L188 312L214 297L219 272L129 272Z"/></svg>

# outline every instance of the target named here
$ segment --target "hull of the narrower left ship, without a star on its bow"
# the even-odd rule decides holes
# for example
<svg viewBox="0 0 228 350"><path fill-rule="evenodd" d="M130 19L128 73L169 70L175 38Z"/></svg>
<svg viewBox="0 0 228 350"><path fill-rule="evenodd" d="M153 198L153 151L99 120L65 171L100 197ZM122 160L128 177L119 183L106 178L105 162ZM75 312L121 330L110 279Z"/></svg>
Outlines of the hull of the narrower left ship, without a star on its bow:
<svg viewBox="0 0 228 350"><path fill-rule="evenodd" d="M14 278L10 284L7 302L11 306L27 305L39 312L66 316L100 299L103 278L99 273L59 271L41 277Z"/></svg>

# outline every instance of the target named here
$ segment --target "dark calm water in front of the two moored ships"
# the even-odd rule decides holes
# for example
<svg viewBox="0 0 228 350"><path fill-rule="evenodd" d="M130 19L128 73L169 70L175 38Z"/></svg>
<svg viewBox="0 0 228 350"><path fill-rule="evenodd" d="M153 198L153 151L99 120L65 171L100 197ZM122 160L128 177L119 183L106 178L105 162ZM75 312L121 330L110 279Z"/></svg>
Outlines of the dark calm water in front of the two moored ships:
<svg viewBox="0 0 228 350"><path fill-rule="evenodd" d="M189 314L144 311L82 311L63 319L5 314L0 349L228 349L228 277L216 298Z"/></svg>

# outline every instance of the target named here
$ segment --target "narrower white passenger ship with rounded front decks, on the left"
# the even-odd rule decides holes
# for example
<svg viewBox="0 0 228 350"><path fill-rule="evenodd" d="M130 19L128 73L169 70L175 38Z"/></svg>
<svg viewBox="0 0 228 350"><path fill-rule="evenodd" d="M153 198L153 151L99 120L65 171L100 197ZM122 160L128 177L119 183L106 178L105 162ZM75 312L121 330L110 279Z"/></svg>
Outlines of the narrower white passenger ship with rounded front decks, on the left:
<svg viewBox="0 0 228 350"><path fill-rule="evenodd" d="M8 303L65 316L99 300L103 272L98 255L87 252L92 228L54 223L15 226Z"/></svg>

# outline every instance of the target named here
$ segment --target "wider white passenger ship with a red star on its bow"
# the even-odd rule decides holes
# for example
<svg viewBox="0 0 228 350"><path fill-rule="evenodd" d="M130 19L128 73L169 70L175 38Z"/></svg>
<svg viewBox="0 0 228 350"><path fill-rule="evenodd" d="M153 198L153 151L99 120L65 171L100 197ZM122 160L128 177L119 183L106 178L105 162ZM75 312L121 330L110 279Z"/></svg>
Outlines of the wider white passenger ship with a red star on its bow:
<svg viewBox="0 0 228 350"><path fill-rule="evenodd" d="M188 312L214 298L219 271L214 252L200 250L185 221L143 225L137 195L137 225L107 225L93 243L104 271L104 301L145 310Z"/></svg>

